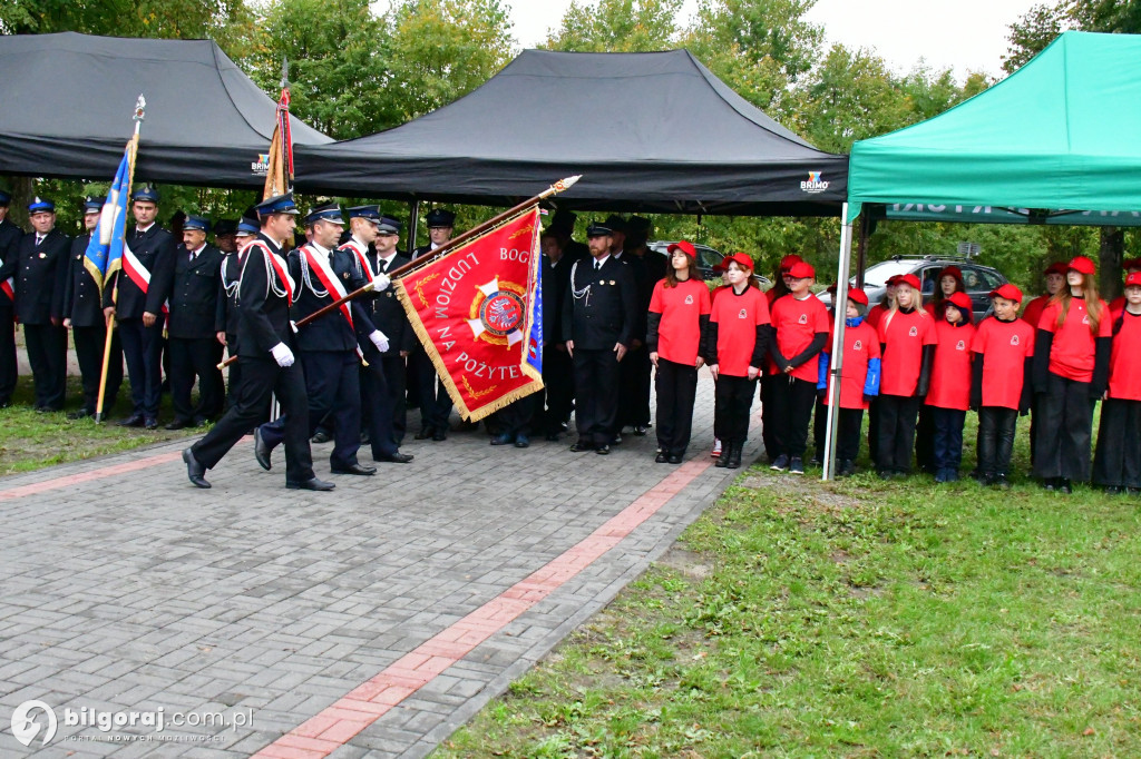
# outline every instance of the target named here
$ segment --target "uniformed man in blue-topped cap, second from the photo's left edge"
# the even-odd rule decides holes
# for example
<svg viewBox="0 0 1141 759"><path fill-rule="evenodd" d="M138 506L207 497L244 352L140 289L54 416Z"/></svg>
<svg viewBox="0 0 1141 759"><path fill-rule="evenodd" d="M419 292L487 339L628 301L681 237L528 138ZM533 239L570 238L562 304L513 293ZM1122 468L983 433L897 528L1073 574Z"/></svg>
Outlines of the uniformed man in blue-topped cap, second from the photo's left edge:
<svg viewBox="0 0 1141 759"><path fill-rule="evenodd" d="M56 227L56 206L35 198L27 206L32 231L18 246L16 318L24 325L27 362L35 385L35 410L63 410L67 390L67 330L64 286L71 237Z"/></svg>

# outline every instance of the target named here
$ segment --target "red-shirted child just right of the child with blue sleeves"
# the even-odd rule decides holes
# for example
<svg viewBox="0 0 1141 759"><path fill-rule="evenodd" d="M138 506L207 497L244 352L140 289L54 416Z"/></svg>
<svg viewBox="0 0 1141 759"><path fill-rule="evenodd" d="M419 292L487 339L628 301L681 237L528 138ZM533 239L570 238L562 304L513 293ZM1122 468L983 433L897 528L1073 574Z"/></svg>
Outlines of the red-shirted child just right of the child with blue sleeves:
<svg viewBox="0 0 1141 759"><path fill-rule="evenodd" d="M880 436L876 468L884 480L907 476L915 447L915 417L931 381L938 342L934 319L923 310L920 280L904 275L896 302L880 321L883 377L880 379Z"/></svg>

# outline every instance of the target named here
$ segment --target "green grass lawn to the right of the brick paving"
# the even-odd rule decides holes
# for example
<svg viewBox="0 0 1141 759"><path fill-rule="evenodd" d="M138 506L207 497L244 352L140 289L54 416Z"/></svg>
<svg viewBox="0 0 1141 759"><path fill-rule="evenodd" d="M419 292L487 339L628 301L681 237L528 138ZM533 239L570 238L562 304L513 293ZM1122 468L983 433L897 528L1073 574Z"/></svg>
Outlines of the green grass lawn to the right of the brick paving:
<svg viewBox="0 0 1141 759"><path fill-rule="evenodd" d="M1141 756L1139 514L753 468L434 756Z"/></svg>

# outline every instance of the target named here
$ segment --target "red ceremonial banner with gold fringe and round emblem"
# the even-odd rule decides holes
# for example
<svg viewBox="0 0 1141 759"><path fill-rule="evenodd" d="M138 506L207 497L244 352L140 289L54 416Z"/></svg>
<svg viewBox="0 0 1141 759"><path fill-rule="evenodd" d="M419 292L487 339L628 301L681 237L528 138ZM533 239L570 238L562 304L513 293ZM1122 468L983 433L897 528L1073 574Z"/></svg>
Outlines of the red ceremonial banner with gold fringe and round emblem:
<svg viewBox="0 0 1141 759"><path fill-rule="evenodd" d="M543 386L527 361L539 304L539 209L393 283L460 414L478 421Z"/></svg>

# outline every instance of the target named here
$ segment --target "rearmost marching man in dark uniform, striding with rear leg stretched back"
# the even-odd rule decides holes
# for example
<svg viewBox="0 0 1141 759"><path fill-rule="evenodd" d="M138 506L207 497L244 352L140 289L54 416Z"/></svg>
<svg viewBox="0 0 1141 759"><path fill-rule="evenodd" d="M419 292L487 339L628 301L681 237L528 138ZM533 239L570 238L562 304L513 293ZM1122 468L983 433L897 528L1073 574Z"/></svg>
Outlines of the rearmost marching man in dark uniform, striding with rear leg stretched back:
<svg viewBox="0 0 1141 759"><path fill-rule="evenodd" d="M267 198L257 206L261 229L244 248L238 283L237 360L242 383L234 406L202 440L183 451L186 476L197 488L209 488L207 470L217 466L250 427L256 425L276 394L285 415L285 487L332 490L332 482L313 473L309 449L309 401L305 375L296 362L297 346L290 325L290 304L299 283L282 258L282 242L291 238L297 205L293 194Z"/></svg>

